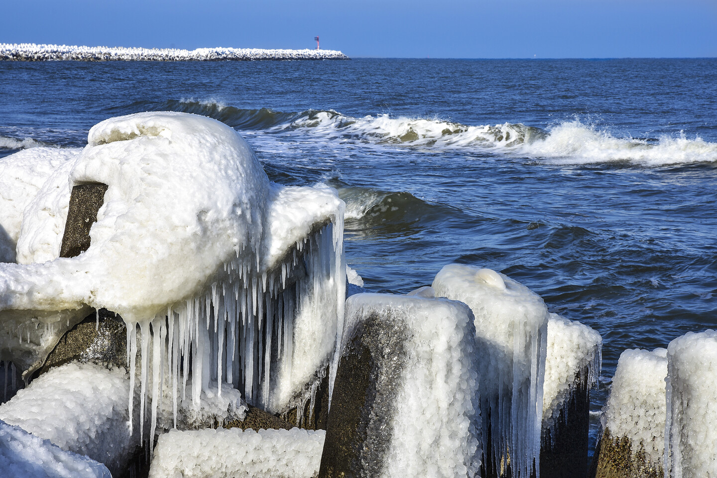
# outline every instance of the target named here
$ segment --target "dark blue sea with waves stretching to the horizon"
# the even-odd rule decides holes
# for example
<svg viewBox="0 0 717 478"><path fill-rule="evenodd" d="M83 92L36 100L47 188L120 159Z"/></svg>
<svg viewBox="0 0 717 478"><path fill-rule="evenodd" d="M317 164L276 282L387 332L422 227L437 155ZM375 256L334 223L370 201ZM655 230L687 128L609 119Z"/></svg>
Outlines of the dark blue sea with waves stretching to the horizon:
<svg viewBox="0 0 717 478"><path fill-rule="evenodd" d="M273 181L338 188L369 290L475 264L598 330L597 411L622 350L717 326L716 85L717 59L4 62L0 156L138 111L222 120Z"/></svg>

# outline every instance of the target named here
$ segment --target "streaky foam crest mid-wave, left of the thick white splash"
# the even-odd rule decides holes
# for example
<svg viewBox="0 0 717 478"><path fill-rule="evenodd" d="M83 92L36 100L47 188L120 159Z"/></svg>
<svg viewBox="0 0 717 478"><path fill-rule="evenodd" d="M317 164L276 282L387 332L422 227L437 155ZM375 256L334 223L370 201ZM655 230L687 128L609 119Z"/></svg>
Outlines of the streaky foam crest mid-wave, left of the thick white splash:
<svg viewBox="0 0 717 478"><path fill-rule="evenodd" d="M536 128L522 124L469 126L440 119L391 118L389 115L352 118L333 110L305 111L299 118L278 128L310 130L316 135L384 144L437 147L511 148L530 140L531 135L539 134Z"/></svg>

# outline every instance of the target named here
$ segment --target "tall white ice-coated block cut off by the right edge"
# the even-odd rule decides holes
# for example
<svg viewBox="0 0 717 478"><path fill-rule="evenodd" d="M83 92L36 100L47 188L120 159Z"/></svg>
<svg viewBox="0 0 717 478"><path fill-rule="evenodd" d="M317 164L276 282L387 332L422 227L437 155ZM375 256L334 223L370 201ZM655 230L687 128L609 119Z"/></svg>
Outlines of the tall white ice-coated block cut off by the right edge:
<svg viewBox="0 0 717 478"><path fill-rule="evenodd" d="M717 477L717 332L668 345L665 477Z"/></svg>

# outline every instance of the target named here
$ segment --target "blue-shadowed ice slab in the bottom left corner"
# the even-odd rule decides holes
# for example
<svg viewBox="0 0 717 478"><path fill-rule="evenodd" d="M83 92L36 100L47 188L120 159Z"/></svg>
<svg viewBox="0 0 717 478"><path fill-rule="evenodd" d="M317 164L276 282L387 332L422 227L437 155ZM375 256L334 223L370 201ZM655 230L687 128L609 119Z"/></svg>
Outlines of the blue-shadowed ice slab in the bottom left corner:
<svg viewBox="0 0 717 478"><path fill-rule="evenodd" d="M0 470L4 478L111 478L103 464L1 420Z"/></svg>

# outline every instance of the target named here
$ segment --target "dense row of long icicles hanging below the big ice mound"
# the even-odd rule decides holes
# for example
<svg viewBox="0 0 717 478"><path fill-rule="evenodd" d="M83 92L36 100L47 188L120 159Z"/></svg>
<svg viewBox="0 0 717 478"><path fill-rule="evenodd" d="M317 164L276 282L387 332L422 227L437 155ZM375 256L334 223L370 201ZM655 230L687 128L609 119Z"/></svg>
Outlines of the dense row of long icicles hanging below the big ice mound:
<svg viewBox="0 0 717 478"><path fill-rule="evenodd" d="M259 271L255 257L237 254L236 260L224 263L222 277L201 294L168 307L166 315L157 315L150 322L127 323L130 390L136 386L138 345L141 352L141 436L150 401L149 436L154 436L166 384L171 387L176 427L178 399L186 398L190 376L195 407L200 405L201 392L210 387L216 386L221 396L222 383L237 388L247 403L260 408L269 405L276 376L282 380L291 376L295 318L312 305L320 307L320 296L326 292L333 293L333 300L338 298L336 288L324 289L327 281L338 282L336 272L343 263L341 232L336 234L335 229L343 228L329 223L300 240L269 272ZM343 295L343 287L338 292ZM336 320L336 312L333 317ZM325 370L317 371L309 393L300 398L300 411L310 400L313 412L315 390ZM131 393L129 406L132 434Z"/></svg>

